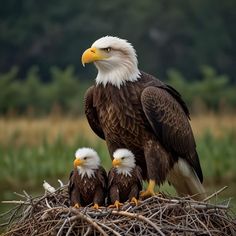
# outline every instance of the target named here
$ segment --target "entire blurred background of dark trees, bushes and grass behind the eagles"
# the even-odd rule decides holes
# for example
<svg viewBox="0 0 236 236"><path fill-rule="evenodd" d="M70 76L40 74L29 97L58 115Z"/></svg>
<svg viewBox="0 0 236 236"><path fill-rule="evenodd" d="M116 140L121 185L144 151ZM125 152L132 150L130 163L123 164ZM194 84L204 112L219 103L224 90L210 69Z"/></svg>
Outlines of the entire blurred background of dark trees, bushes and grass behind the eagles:
<svg viewBox="0 0 236 236"><path fill-rule="evenodd" d="M80 58L93 41L113 35L134 45L140 69L182 94L206 189L227 185L222 198L235 202L235 12L235 0L2 2L0 200L23 189L41 194L44 179L66 183L81 146L94 147L109 169L105 143L83 116L96 70Z"/></svg>

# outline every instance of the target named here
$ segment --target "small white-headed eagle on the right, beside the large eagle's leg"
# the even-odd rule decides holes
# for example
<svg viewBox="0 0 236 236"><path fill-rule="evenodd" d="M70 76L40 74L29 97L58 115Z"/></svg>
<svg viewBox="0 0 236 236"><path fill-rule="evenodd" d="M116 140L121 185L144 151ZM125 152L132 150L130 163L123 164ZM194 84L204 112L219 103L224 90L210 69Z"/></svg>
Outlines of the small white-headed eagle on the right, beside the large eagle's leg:
<svg viewBox="0 0 236 236"><path fill-rule="evenodd" d="M138 204L142 190L142 170L135 164L134 154L128 149L117 149L113 154L113 168L108 174L108 202L119 208L127 200Z"/></svg>

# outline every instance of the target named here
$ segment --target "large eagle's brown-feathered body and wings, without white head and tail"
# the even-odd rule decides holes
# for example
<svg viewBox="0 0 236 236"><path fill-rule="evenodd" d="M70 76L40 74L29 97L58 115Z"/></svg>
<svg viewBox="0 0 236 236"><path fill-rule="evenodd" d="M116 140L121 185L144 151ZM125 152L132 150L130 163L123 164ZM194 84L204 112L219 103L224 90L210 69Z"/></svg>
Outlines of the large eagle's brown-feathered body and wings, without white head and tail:
<svg viewBox="0 0 236 236"><path fill-rule="evenodd" d="M85 113L93 131L106 140L111 157L117 148L128 148L144 179L163 183L181 157L202 182L188 109L179 93L160 80L142 73L137 81L120 88L90 87Z"/></svg>

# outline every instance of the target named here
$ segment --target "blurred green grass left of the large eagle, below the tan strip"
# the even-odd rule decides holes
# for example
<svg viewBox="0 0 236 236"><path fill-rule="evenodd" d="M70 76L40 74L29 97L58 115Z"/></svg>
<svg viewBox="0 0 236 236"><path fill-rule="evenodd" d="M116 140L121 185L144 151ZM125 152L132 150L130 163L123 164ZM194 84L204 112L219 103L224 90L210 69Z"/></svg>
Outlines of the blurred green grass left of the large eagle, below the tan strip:
<svg viewBox="0 0 236 236"><path fill-rule="evenodd" d="M65 145L60 136L53 144L47 141L40 146L0 146L0 183L2 188L37 187L44 179L66 179L73 168L74 153L82 146L93 147L101 156L102 164L109 167L108 153L104 142L91 144L78 137L72 145Z"/></svg>

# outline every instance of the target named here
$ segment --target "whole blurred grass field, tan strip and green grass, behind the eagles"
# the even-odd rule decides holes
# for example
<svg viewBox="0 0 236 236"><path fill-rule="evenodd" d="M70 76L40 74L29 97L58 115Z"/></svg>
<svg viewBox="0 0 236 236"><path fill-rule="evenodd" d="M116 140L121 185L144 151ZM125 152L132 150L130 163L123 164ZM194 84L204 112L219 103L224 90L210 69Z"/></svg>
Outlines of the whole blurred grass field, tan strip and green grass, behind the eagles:
<svg viewBox="0 0 236 236"><path fill-rule="evenodd" d="M191 121L207 189L230 186L225 196L236 195L236 116L200 116ZM74 152L82 146L96 149L108 170L111 161L105 142L87 121L48 117L0 119L0 200L16 198L13 192L43 191L43 180L57 185L68 181ZM169 192L173 192L165 186ZM0 210L3 209L0 206Z"/></svg>

